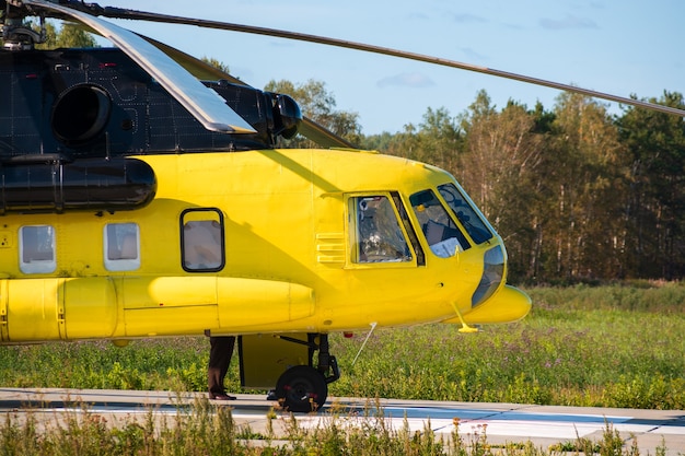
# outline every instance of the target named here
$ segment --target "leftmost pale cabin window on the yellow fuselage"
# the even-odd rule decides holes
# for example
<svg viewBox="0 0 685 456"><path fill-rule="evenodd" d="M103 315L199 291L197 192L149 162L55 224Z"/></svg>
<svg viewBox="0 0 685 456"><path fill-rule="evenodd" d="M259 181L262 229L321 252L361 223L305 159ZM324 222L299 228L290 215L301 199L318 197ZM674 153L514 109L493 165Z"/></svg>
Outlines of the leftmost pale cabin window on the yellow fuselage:
<svg viewBox="0 0 685 456"><path fill-rule="evenodd" d="M22 226L19 235L20 270L24 273L54 272L55 229L50 225Z"/></svg>

